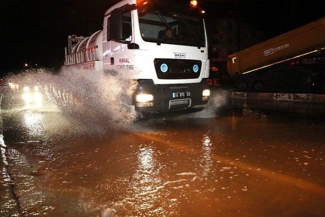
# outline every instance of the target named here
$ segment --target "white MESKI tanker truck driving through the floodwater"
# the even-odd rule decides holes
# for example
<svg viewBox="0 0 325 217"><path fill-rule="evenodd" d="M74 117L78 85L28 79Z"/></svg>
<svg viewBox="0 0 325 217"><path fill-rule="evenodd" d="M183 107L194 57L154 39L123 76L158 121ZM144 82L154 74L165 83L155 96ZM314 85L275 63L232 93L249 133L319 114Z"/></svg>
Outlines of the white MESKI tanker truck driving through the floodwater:
<svg viewBox="0 0 325 217"><path fill-rule="evenodd" d="M69 37L63 67L129 73L138 81L132 97L138 112L206 104L205 21L189 2L181 10L173 5L158 0L117 3L105 13L103 30L86 38ZM79 42L73 46L73 41Z"/></svg>

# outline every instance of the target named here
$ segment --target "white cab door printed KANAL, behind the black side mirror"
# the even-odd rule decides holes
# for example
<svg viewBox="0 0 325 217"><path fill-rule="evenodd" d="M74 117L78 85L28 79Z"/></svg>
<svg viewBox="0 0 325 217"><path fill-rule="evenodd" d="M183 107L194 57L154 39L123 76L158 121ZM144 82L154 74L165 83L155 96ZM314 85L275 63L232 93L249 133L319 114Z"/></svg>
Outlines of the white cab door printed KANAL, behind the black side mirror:
<svg viewBox="0 0 325 217"><path fill-rule="evenodd" d="M134 41L133 11L126 10L122 14L122 32L125 43L111 41L111 65L116 71L134 70L134 49L128 49L128 44ZM113 31L114 29L111 29Z"/></svg>

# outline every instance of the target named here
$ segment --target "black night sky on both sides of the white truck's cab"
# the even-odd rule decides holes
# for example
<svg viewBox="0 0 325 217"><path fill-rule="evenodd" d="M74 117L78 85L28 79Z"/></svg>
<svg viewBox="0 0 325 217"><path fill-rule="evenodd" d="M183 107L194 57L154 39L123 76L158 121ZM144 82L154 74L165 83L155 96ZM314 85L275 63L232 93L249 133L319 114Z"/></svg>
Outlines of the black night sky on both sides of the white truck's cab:
<svg viewBox="0 0 325 217"><path fill-rule="evenodd" d="M5 74L21 70L24 63L58 69L63 64L68 35L88 36L99 30L105 11L118 0L0 2L3 38L0 73ZM201 0L199 3L207 12L208 21L236 18L269 38L325 16L323 0Z"/></svg>

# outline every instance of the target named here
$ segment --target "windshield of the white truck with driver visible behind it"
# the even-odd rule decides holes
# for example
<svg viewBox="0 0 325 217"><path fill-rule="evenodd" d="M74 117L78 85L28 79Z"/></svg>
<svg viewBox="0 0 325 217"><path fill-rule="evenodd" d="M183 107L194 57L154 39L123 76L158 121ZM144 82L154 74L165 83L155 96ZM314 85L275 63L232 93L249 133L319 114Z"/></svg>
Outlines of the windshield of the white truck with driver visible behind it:
<svg viewBox="0 0 325 217"><path fill-rule="evenodd" d="M203 19L151 8L138 13L144 41L205 47Z"/></svg>

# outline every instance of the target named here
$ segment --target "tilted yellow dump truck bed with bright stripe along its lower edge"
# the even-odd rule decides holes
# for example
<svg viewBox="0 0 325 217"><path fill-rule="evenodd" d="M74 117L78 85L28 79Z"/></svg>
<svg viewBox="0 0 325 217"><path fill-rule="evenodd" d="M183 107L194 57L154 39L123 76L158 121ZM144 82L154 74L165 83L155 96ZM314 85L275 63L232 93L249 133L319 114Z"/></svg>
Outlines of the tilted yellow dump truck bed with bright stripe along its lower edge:
<svg viewBox="0 0 325 217"><path fill-rule="evenodd" d="M325 49L325 17L228 57L230 75L241 75Z"/></svg>

